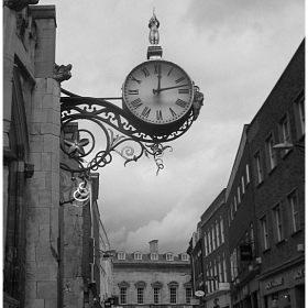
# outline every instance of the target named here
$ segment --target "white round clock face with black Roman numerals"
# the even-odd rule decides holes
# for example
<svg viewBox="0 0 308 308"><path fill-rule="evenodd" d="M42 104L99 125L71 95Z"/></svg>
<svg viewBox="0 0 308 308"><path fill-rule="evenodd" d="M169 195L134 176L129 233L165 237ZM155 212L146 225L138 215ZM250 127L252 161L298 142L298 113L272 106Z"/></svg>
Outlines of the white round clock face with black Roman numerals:
<svg viewBox="0 0 308 308"><path fill-rule="evenodd" d="M193 105L194 84L178 65L150 59L136 66L123 85L123 103L139 120L154 125L174 123Z"/></svg>

